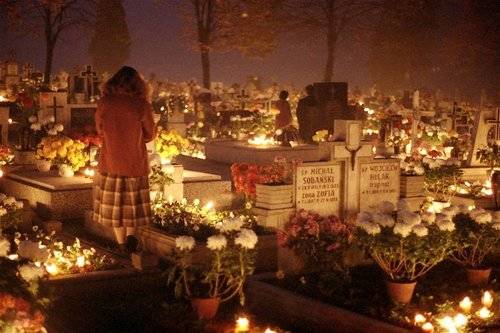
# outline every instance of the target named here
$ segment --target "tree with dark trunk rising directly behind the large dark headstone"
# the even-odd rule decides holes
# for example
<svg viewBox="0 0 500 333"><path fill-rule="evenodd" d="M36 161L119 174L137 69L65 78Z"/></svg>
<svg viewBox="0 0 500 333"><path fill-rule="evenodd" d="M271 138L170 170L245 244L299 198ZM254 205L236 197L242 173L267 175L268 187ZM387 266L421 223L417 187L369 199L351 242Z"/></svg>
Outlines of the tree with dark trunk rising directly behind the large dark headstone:
<svg viewBox="0 0 500 333"><path fill-rule="evenodd" d="M359 32L364 20L379 6L377 0L288 0L291 31L308 34L309 40L320 38L326 44L325 82L334 76L337 45L349 32Z"/></svg>

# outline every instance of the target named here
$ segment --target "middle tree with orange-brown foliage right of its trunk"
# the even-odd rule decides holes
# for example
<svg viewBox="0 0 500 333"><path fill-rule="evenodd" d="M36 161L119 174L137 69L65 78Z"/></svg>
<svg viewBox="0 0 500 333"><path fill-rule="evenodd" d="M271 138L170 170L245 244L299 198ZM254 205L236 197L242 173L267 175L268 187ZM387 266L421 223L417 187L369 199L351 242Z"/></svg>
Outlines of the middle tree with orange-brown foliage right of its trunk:
<svg viewBox="0 0 500 333"><path fill-rule="evenodd" d="M212 50L265 56L275 49L281 0L185 0L186 35L200 52L203 86L210 87ZM277 28L278 27L278 28Z"/></svg>

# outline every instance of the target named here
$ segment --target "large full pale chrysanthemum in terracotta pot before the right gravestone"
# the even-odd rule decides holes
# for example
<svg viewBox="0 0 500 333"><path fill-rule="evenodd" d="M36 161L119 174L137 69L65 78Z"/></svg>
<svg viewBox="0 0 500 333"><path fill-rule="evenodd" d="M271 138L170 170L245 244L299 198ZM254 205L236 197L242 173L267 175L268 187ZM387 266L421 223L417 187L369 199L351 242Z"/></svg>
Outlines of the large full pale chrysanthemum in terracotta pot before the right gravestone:
<svg viewBox="0 0 500 333"><path fill-rule="evenodd" d="M417 279L444 260L454 249L451 217L415 213L405 203L397 211L390 202L357 217L361 246L386 274L388 295L409 303Z"/></svg>

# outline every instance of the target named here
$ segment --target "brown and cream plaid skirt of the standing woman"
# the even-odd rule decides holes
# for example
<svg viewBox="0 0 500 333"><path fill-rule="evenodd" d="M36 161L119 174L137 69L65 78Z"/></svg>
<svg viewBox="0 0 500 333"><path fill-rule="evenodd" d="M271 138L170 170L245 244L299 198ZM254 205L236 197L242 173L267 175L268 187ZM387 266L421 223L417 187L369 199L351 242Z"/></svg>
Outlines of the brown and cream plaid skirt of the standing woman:
<svg viewBox="0 0 500 333"><path fill-rule="evenodd" d="M94 222L137 227L151 221L148 177L94 176Z"/></svg>

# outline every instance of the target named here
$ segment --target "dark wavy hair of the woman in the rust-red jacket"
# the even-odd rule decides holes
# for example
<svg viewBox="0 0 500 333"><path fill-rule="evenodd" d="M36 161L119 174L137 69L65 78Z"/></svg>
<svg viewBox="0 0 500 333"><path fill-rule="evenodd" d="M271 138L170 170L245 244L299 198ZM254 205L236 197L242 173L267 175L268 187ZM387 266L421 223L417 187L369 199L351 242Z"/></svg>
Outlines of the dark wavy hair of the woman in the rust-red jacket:
<svg viewBox="0 0 500 333"><path fill-rule="evenodd" d="M149 89L134 68L123 66L106 82L103 94L104 96L129 95L148 100Z"/></svg>

